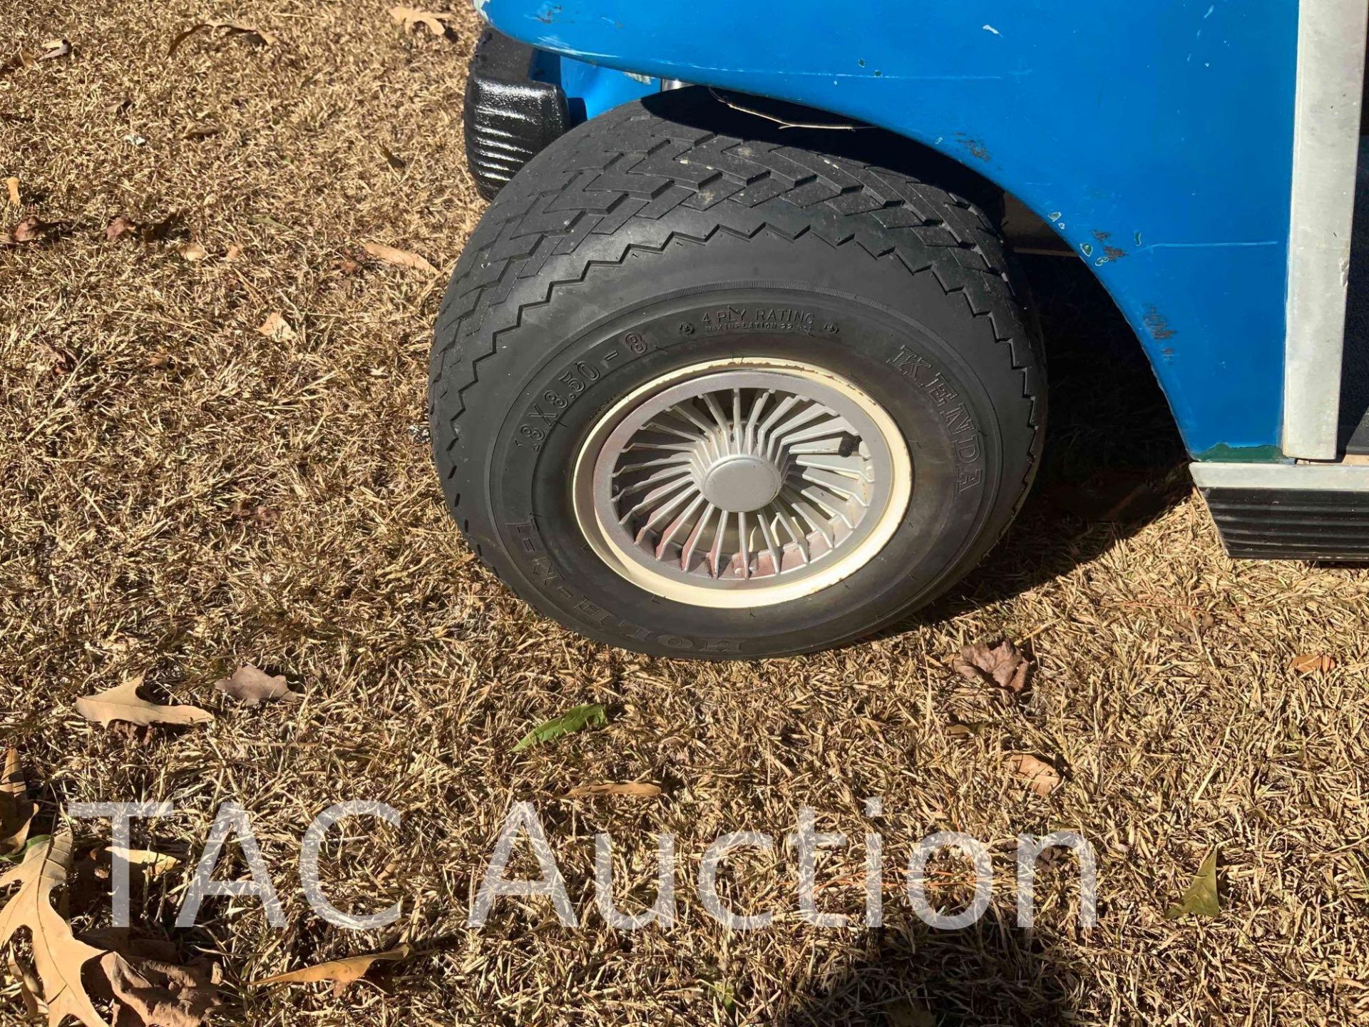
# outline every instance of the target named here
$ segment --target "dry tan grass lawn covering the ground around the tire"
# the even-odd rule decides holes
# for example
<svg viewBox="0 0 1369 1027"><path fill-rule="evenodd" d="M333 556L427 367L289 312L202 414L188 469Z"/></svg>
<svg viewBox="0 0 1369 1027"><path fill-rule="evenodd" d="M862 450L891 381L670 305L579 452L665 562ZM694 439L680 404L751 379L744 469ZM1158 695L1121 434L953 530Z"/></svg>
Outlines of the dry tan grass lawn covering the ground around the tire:
<svg viewBox="0 0 1369 1027"><path fill-rule="evenodd" d="M249 808L287 930L244 902L175 931L179 879L136 905L151 934L222 959L226 1019L917 1023L906 996L942 1023L1369 1019L1369 576L1228 561L1201 501L1165 477L1177 457L1149 375L1108 352L1097 297L1061 271L1038 270L1060 286L1046 290L1046 478L991 561L916 624L754 665L653 660L534 616L470 559L423 429L441 282L335 263L374 240L449 267L481 212L460 141L476 26L463 14L455 40L405 36L386 5L11 0L0 14L7 52L75 45L0 77L0 177L18 175L25 200L3 218L71 223L0 251L0 741L23 745L44 824L75 800L168 798L183 812L136 844L193 857L222 800ZM204 34L167 59L211 16L279 41ZM185 138L201 122L222 131ZM162 241L107 242L119 214L175 220ZM178 256L188 240L208 259ZM256 333L272 311L296 341ZM1161 485L1121 523L1080 516L1079 482L1106 509L1142 479ZM960 645L998 635L1031 639L1023 705L949 670ZM1302 652L1338 665L1294 675ZM226 707L211 683L240 660L287 674L307 701ZM75 716L75 697L142 671L218 723L136 742ZM511 753L530 723L583 701L611 705L612 723ZM1065 785L1024 794L1002 770L1014 752L1055 759ZM560 798L648 778L661 798ZM728 935L704 916L691 882L708 841L783 835L805 802L853 839L820 861L823 901L858 912L861 801L876 794L891 882L931 830L991 845L998 897L979 927L928 931L893 889L883 930L802 924L783 853L730 864L739 902L790 911L771 930ZM298 891L304 827L344 798L390 802L404 824L330 852L337 904L402 900L402 937L439 950L344 998L241 989L398 937L327 927ZM519 798L548 826L578 933L543 901L464 927ZM1066 865L1045 876L1028 938L1012 926L1013 838L1057 827L1098 849L1101 923L1077 930ZM679 835L674 928L602 928L601 830L638 880L650 835ZM1165 920L1213 845L1225 913ZM3 1023L18 1022L15 994L0 991Z"/></svg>

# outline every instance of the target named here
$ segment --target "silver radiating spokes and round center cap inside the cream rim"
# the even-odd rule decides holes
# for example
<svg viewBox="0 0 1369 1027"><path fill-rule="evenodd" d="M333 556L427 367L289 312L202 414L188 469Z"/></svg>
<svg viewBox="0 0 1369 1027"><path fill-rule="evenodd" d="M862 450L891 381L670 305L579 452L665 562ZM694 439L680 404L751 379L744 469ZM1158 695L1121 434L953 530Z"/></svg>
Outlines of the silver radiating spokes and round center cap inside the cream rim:
<svg viewBox="0 0 1369 1027"><path fill-rule="evenodd" d="M902 440L869 434L887 416L872 422L832 379L787 364L711 370L697 390L686 379L668 401L645 400L613 422L622 444L609 487L597 479L593 524L663 582L705 589L772 587L854 555L883 518Z"/></svg>

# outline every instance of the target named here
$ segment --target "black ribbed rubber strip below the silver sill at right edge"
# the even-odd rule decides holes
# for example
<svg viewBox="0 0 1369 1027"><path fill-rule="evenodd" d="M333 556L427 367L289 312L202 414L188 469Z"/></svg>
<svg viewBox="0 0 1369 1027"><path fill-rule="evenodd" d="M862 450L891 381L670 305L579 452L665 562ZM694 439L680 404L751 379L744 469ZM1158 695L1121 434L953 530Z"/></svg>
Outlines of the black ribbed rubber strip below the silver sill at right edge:
<svg viewBox="0 0 1369 1027"><path fill-rule="evenodd" d="M1227 553L1246 560L1369 561L1369 493L1203 489Z"/></svg>

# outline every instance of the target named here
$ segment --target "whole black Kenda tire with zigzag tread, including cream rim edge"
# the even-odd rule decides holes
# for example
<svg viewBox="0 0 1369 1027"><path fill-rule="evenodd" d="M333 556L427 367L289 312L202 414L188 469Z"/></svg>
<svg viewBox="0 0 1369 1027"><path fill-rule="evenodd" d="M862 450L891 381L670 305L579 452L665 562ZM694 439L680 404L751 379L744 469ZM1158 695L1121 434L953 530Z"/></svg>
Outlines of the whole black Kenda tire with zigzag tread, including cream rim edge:
<svg viewBox="0 0 1369 1027"><path fill-rule="evenodd" d="M925 605L1012 522L1036 470L1046 396L998 229L954 192L832 153L839 134L780 129L706 89L672 90L561 136L485 212L437 322L434 456L470 545L542 613L653 655L810 652ZM743 519L730 542L739 563L719 571L715 555L713 571L754 570L742 586L756 589L754 604L706 572L680 583L678 557L680 581L661 589L643 585L650 552L612 566L604 540L617 529L586 527L594 503L617 501L589 492L608 481L591 477L590 449L632 397L704 372L694 368L756 371L719 381L763 385L793 372L819 392L830 375L893 424L890 452L906 448L908 467L895 453L869 477L898 478L906 497L890 501L878 550L827 581L816 549L795 538L798 570L793 546L769 564L773 582L794 579L776 592L764 556L746 563L756 529ZM760 392L745 394L754 422ZM865 459L864 442L854 456L843 445L831 459ZM823 559L841 555L836 545ZM805 592L804 574L821 587Z"/></svg>

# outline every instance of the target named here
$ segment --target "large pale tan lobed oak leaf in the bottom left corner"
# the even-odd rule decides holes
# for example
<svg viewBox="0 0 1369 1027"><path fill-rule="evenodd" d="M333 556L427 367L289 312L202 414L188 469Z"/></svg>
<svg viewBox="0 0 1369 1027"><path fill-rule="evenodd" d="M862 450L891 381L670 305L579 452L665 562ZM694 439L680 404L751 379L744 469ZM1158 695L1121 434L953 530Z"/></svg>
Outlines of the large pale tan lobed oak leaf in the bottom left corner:
<svg viewBox="0 0 1369 1027"><path fill-rule="evenodd" d="M0 948L27 927L48 1022L57 1024L63 1016L73 1016L86 1027L108 1027L81 983L81 968L101 952L77 941L71 926L52 908L52 890L66 885L70 870L71 834L63 831L47 845L30 849L22 864L0 878L0 889L19 886L0 909Z"/></svg>

